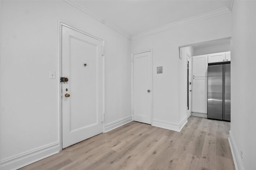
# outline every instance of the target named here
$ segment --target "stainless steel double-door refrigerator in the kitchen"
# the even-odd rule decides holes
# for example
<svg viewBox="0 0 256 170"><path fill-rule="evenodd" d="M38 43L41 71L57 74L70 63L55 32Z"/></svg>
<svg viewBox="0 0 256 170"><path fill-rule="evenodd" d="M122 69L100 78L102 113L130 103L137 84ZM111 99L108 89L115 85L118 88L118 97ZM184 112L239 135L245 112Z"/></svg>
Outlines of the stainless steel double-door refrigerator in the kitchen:
<svg viewBox="0 0 256 170"><path fill-rule="evenodd" d="M230 121L230 63L208 66L207 117Z"/></svg>

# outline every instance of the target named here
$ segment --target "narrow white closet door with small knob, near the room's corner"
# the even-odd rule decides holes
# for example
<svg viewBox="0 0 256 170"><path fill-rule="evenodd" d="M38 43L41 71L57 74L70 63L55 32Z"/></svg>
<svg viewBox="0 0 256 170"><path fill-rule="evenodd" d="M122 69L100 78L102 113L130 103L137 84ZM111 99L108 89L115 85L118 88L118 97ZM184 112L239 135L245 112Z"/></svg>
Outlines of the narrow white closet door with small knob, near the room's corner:
<svg viewBox="0 0 256 170"><path fill-rule="evenodd" d="M151 51L133 55L133 120L151 124Z"/></svg>

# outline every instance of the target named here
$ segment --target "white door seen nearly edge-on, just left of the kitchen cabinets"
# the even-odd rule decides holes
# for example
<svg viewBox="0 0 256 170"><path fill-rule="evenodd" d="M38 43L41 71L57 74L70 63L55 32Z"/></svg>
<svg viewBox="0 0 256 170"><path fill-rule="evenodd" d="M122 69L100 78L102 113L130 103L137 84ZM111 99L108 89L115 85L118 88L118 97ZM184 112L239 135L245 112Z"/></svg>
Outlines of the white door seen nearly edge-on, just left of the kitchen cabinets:
<svg viewBox="0 0 256 170"><path fill-rule="evenodd" d="M188 88L188 100L187 100L187 117L191 116L191 93L192 93L192 81L191 81L191 58L189 56L187 56L187 88Z"/></svg>

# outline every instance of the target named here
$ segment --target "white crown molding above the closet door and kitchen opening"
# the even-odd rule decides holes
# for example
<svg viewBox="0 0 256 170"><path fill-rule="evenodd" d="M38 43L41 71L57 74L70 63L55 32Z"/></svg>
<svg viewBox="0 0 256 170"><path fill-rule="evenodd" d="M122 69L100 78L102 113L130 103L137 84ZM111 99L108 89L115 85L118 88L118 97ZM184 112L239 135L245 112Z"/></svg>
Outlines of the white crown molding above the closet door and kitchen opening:
<svg viewBox="0 0 256 170"><path fill-rule="evenodd" d="M230 0L230 1L233 2L233 0ZM151 29L149 31L138 33L138 34L132 36L132 40L142 38L142 37L146 37L148 35L160 33L162 31L166 31L168 29L173 29L173 28L176 28L176 27L180 27L182 25L186 25L186 24L193 23L193 22L196 22L196 21L212 18L214 16L219 16L219 15L222 15L222 14L226 14L228 12L231 12L230 9L232 8L232 4L233 4L232 2L229 2L229 8L225 6L225 7L222 7L222 8L218 8L216 10L212 10L210 12L206 12L204 14L200 14L200 15L190 17L190 18L187 18L187 19L184 19L184 20L180 20L180 21L177 21L177 22L174 22L174 23L170 23L170 24L158 27L156 29Z"/></svg>

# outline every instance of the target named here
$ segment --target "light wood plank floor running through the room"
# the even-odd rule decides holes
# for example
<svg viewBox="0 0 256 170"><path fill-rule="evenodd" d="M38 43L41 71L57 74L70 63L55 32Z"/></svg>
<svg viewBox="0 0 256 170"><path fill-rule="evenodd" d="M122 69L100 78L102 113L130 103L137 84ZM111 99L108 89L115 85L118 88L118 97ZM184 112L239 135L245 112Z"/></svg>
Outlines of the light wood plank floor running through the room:
<svg viewBox="0 0 256 170"><path fill-rule="evenodd" d="M22 170L234 170L230 123L190 117L181 132L130 122Z"/></svg>

